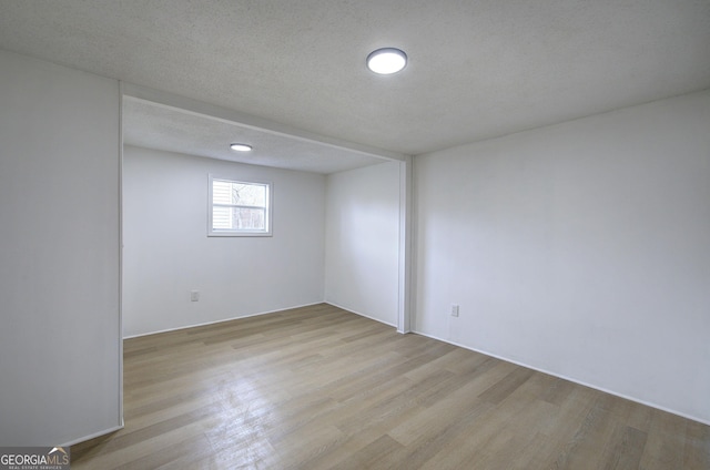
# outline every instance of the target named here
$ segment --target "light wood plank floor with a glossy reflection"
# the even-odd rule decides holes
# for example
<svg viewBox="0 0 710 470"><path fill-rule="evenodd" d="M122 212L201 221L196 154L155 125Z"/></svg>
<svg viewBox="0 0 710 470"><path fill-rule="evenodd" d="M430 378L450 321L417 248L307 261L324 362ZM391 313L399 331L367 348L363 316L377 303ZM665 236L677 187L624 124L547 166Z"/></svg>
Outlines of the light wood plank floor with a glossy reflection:
<svg viewBox="0 0 710 470"><path fill-rule="evenodd" d="M710 428L318 305L124 341L72 469L710 469Z"/></svg>

